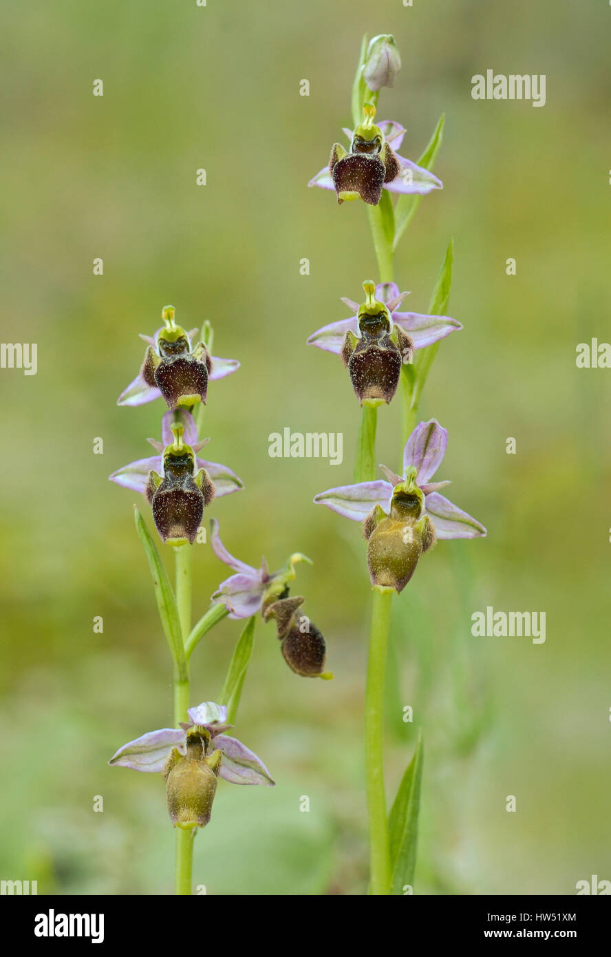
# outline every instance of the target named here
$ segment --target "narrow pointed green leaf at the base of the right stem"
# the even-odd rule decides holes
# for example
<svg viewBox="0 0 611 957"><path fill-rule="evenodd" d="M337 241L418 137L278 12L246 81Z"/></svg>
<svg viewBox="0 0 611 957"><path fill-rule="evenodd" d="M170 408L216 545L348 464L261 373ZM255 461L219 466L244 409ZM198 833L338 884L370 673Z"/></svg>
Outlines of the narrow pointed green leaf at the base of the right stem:
<svg viewBox="0 0 611 957"><path fill-rule="evenodd" d="M421 733L418 735L414 756L405 770L388 818L392 874L390 893L394 895L403 895L404 885L411 884L414 879L423 756L423 737Z"/></svg>

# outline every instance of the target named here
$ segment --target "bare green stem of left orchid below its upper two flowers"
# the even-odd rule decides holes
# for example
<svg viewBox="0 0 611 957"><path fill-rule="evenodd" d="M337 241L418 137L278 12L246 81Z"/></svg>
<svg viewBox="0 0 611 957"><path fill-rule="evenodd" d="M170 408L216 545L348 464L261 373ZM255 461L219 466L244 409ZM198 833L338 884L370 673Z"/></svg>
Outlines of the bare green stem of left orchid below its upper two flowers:
<svg viewBox="0 0 611 957"><path fill-rule="evenodd" d="M176 607L181 623L183 646L191 630L191 558L192 545L178 545L174 548L176 560ZM186 709L189 705L188 660L186 675L174 671L174 723L188 721ZM194 829L195 831L196 829ZM191 872L193 867L194 831L175 828L176 853L174 867L174 889L176 894L191 894Z"/></svg>

